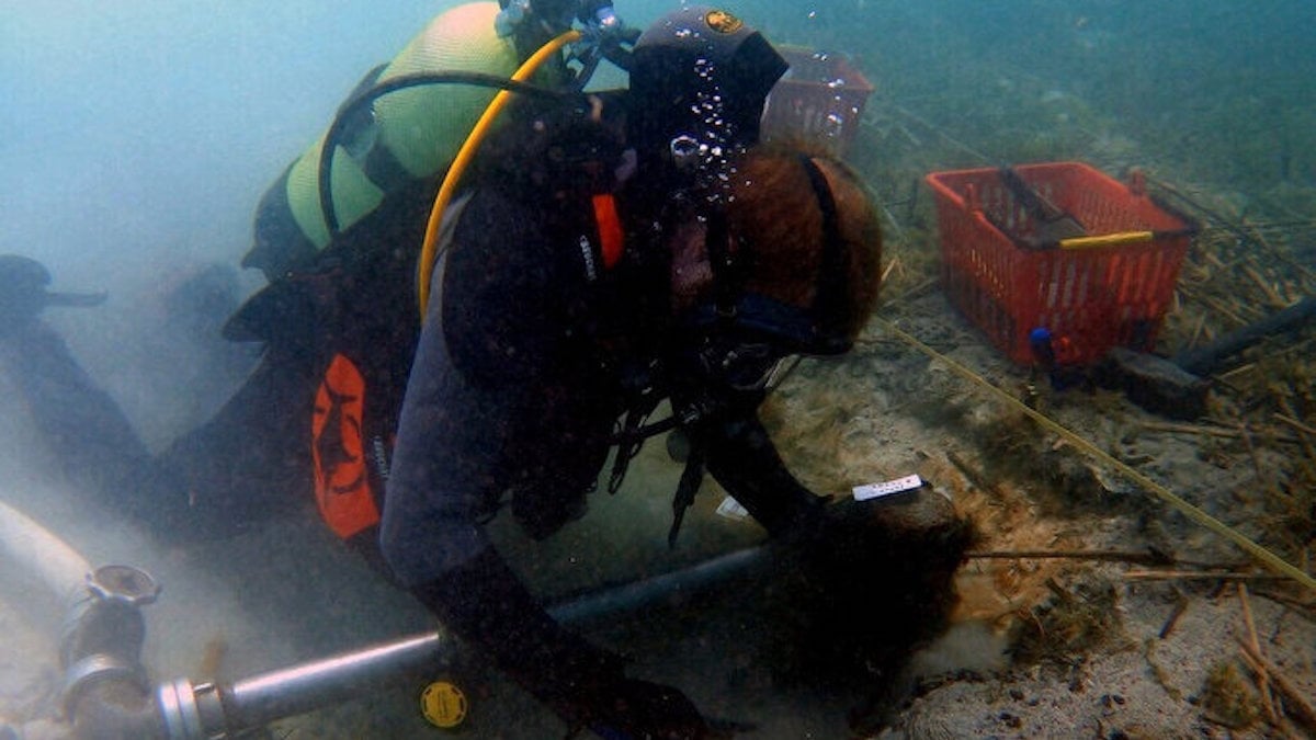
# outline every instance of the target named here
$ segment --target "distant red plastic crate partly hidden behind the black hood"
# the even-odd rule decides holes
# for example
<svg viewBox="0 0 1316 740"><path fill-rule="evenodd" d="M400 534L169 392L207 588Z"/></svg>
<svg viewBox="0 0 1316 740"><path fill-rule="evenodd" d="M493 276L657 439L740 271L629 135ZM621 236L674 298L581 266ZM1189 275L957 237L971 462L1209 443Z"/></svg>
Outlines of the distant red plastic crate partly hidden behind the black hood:
<svg viewBox="0 0 1316 740"><path fill-rule="evenodd" d="M767 96L763 138L805 140L844 155L859 130L873 84L841 54L801 46L778 51L791 67Z"/></svg>

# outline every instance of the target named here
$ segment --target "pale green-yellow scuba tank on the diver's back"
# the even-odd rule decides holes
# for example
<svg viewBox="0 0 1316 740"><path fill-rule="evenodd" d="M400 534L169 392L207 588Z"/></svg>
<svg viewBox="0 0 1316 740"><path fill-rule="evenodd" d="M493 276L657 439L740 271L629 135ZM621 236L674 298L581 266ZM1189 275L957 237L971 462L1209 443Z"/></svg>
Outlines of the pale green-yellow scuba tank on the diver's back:
<svg viewBox="0 0 1316 740"><path fill-rule="evenodd" d="M417 72L509 76L517 54L512 41L495 30L497 13L497 3L470 3L441 13L388 65L366 75L355 92ZM372 212L396 187L446 167L495 93L458 84L407 87L378 97L358 120L347 121L329 165L338 229ZM321 134L262 198L255 244L243 267L257 267L274 280L329 245L320 196L324 146Z"/></svg>

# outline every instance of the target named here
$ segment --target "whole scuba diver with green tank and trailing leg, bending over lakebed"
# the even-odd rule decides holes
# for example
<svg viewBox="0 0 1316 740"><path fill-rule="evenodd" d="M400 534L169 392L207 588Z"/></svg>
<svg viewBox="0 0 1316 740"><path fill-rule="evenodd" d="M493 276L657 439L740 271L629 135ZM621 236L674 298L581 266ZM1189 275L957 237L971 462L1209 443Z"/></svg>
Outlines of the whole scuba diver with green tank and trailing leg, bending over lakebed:
<svg viewBox="0 0 1316 740"><path fill-rule="evenodd" d="M580 70L554 57L507 82L575 21L590 30ZM604 55L629 87L586 92ZM583 515L612 448L616 490L644 440L670 432L688 446L670 539L707 471L770 536L833 540L845 507L791 475L757 410L783 361L850 349L875 304L880 232L840 161L759 144L786 68L707 7L636 37L597 0L462 5L367 75L262 199L242 263L270 284L224 332L265 353L209 423L151 456L84 374L45 367L76 363L39 321L18 332L34 359L7 359L57 454L83 454L89 486L151 531L222 536L313 500L572 729L711 736L678 689L628 677L558 625L484 524L507 502L547 537ZM447 82L470 87L433 84ZM511 109L432 209L482 84L513 90ZM453 97L472 90L474 104ZM32 277L28 319L53 302ZM103 440L61 432L71 404L49 402L66 391L101 398L75 416L108 419ZM671 416L649 421L663 400Z"/></svg>

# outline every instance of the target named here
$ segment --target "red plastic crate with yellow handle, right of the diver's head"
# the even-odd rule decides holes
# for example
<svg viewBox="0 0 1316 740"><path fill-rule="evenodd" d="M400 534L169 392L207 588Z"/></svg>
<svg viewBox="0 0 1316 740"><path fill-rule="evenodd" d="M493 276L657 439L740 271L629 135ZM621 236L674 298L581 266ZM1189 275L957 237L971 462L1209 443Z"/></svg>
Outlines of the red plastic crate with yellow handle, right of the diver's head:
<svg viewBox="0 0 1316 740"><path fill-rule="evenodd" d="M1152 349L1196 225L1079 162L1013 167L1091 238L1032 246L1037 223L996 169L932 172L942 286L950 303L1019 365L1046 328L1059 359L1086 365L1113 346Z"/></svg>

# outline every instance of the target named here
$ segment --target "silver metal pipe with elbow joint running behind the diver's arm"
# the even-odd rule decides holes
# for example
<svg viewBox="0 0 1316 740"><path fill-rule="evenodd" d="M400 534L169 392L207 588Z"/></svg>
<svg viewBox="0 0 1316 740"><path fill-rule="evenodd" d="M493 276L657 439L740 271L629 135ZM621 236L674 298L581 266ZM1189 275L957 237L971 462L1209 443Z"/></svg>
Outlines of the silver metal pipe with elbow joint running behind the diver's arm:
<svg viewBox="0 0 1316 740"><path fill-rule="evenodd" d="M72 607L62 644L64 706L86 740L208 740L233 737L400 678L432 673L455 657L445 632L413 635L258 674L228 685L187 678L154 690L141 664L141 607L159 586L146 573L87 560L32 519L0 502L0 553L37 574ZM600 589L549 611L565 624L671 603L770 566L767 545L732 552L644 581ZM14 731L0 727L0 732ZM22 737L21 733L14 735ZM0 735L3 737L3 735Z"/></svg>

